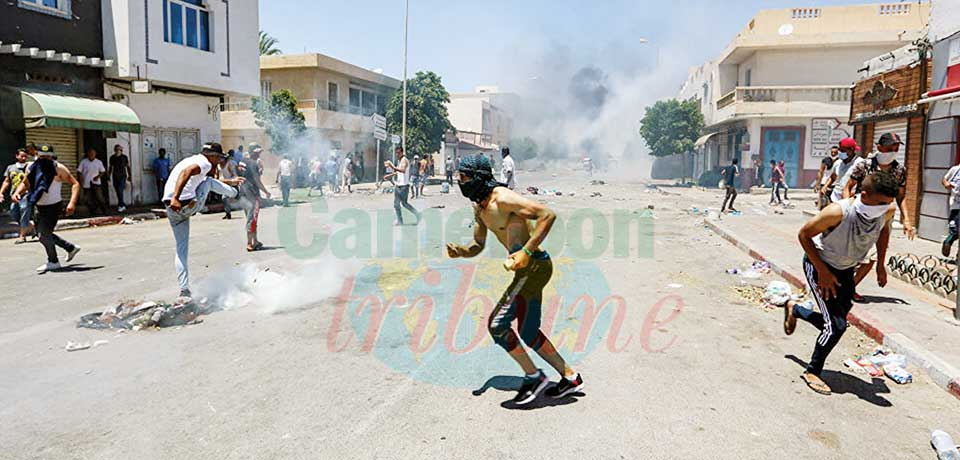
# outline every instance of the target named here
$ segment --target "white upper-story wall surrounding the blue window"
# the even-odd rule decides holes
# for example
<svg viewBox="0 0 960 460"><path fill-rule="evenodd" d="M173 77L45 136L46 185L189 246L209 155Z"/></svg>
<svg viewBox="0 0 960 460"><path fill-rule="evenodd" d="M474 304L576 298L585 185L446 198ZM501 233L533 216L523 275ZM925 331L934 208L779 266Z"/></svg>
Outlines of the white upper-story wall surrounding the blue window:
<svg viewBox="0 0 960 460"><path fill-rule="evenodd" d="M162 0L103 0L104 54L116 61L106 76L220 94L257 94L257 0L209 0L207 5L211 51L164 41Z"/></svg>

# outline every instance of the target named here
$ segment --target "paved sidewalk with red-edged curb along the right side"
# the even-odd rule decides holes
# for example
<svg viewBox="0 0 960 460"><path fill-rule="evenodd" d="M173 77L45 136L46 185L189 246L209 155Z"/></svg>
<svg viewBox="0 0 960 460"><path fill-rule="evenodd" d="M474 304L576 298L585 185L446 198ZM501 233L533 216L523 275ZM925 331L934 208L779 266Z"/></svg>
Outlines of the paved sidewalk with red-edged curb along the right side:
<svg viewBox="0 0 960 460"><path fill-rule="evenodd" d="M802 209L812 207L806 201L795 200L797 208L774 214L765 206L766 201L740 200L737 207L741 215L710 217L704 223L754 258L770 262L789 283L806 289L801 267L803 249L797 241L797 231L809 219ZM909 241L895 230L888 255L899 252L937 254L939 245ZM858 292L867 302L854 306L848 317L850 324L906 355L911 364L924 369L938 385L960 398L960 323L953 319L950 302L893 276L881 289L875 271L864 279Z"/></svg>

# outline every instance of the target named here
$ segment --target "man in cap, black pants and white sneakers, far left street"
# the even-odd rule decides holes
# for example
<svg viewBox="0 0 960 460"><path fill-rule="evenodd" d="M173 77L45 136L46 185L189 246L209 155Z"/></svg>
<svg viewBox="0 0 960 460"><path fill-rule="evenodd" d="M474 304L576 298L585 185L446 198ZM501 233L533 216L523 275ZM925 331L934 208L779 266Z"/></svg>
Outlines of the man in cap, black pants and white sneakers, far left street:
<svg viewBox="0 0 960 460"><path fill-rule="evenodd" d="M21 206L33 207L36 205L37 233L40 243L47 251L47 263L37 267L37 273L43 274L51 270L60 269L60 260L57 258L57 247L67 251L69 263L80 252L80 247L64 240L53 233L57 228L60 212L67 216L73 215L77 209L77 199L80 198L80 182L70 174L66 166L53 159L53 147L43 144L37 147L37 161L27 167L27 175L13 192L13 202ZM63 209L63 198L60 191L63 184L71 186L70 201Z"/></svg>

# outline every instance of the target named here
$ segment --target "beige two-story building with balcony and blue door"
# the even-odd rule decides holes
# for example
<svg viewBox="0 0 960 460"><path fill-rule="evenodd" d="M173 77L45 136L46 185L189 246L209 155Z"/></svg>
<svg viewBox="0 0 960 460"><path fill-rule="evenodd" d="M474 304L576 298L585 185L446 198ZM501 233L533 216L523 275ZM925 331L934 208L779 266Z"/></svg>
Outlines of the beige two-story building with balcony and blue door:
<svg viewBox="0 0 960 460"><path fill-rule="evenodd" d="M788 185L808 186L830 146L853 134L858 69L921 37L929 9L923 2L757 13L681 94L699 92L707 120L696 143L698 172L737 157L749 178L754 161L783 160Z"/></svg>

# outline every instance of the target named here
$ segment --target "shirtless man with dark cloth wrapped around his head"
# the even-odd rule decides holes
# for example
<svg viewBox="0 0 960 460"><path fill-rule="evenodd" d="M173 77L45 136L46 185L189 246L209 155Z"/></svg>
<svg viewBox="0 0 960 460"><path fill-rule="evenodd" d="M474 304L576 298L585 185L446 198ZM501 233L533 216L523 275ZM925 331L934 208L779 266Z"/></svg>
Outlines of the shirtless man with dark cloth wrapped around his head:
<svg viewBox="0 0 960 460"><path fill-rule="evenodd" d="M533 364L520 345L517 334L510 328L514 318L517 319L520 339L560 373L560 382L548 390L547 395L562 398L580 391L583 388L580 374L567 365L550 339L540 331L543 288L553 273L550 256L540 249L540 244L550 232L556 215L495 181L490 160L483 155L464 157L460 161L459 173L460 191L476 203L476 225L473 227L473 241L467 246L447 244L447 255L456 258L480 254L487 241L487 229L511 252L504 266L514 272L513 282L493 309L488 329L493 340L526 373L513 402L523 405L533 401L549 383L547 376ZM531 220L536 220L532 233Z"/></svg>

